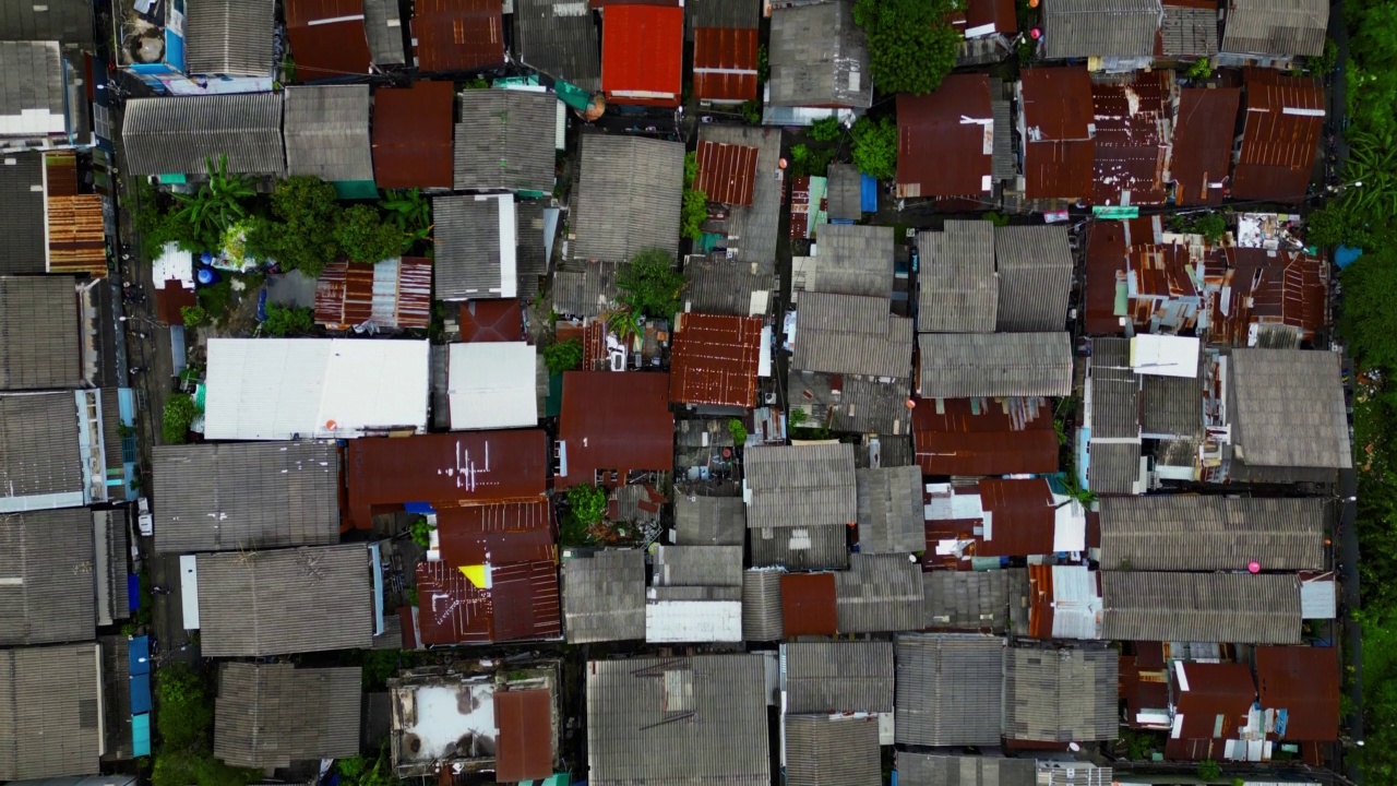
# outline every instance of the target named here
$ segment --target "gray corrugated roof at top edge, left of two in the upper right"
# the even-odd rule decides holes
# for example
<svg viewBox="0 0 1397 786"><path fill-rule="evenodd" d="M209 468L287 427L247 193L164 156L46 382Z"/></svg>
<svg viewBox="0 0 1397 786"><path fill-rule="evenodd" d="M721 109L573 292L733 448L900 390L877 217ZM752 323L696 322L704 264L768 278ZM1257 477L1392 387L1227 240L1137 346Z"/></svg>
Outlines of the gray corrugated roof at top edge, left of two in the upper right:
<svg viewBox="0 0 1397 786"><path fill-rule="evenodd" d="M1044 6L1044 55L1151 57L1161 14L1160 0L1053 0Z"/></svg>

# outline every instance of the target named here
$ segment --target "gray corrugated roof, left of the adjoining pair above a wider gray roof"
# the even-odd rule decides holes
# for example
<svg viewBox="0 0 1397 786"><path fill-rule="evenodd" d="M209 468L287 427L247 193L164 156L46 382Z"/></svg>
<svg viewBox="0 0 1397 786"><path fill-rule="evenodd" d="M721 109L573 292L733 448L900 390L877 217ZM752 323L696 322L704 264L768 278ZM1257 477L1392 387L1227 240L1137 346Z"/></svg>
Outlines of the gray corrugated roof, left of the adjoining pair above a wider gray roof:
<svg viewBox="0 0 1397 786"><path fill-rule="evenodd" d="M995 225L947 220L943 232L918 232L916 329L922 333L993 333L999 303Z"/></svg>

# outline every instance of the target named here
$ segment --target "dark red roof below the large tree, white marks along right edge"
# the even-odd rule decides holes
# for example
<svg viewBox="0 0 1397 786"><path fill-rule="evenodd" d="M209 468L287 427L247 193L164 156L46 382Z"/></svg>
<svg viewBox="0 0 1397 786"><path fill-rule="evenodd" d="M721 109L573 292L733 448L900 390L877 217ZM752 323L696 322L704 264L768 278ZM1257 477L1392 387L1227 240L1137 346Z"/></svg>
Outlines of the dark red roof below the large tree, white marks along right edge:
<svg viewBox="0 0 1397 786"><path fill-rule="evenodd" d="M926 95L900 94L897 196L978 196L992 190L993 131L986 74L951 74Z"/></svg>

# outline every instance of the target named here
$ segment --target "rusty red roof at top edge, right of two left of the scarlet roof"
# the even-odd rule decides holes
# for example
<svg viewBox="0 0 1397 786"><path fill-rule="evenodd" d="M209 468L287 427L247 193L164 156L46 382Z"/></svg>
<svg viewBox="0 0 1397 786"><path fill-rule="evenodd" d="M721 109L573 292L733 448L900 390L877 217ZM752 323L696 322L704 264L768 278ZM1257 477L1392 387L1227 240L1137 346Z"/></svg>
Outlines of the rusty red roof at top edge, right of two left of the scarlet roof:
<svg viewBox="0 0 1397 786"><path fill-rule="evenodd" d="M416 0L418 70L475 71L503 64L503 18L500 0Z"/></svg>

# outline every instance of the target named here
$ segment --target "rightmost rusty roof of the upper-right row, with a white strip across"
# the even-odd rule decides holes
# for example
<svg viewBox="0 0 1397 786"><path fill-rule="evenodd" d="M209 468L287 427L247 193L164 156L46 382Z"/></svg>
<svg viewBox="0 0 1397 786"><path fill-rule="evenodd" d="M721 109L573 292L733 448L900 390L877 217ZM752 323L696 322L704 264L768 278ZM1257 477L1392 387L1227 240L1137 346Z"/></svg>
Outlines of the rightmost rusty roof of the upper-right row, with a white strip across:
<svg viewBox="0 0 1397 786"><path fill-rule="evenodd" d="M1303 201L1324 127L1324 91L1306 77L1246 69L1246 123L1232 199Z"/></svg>

